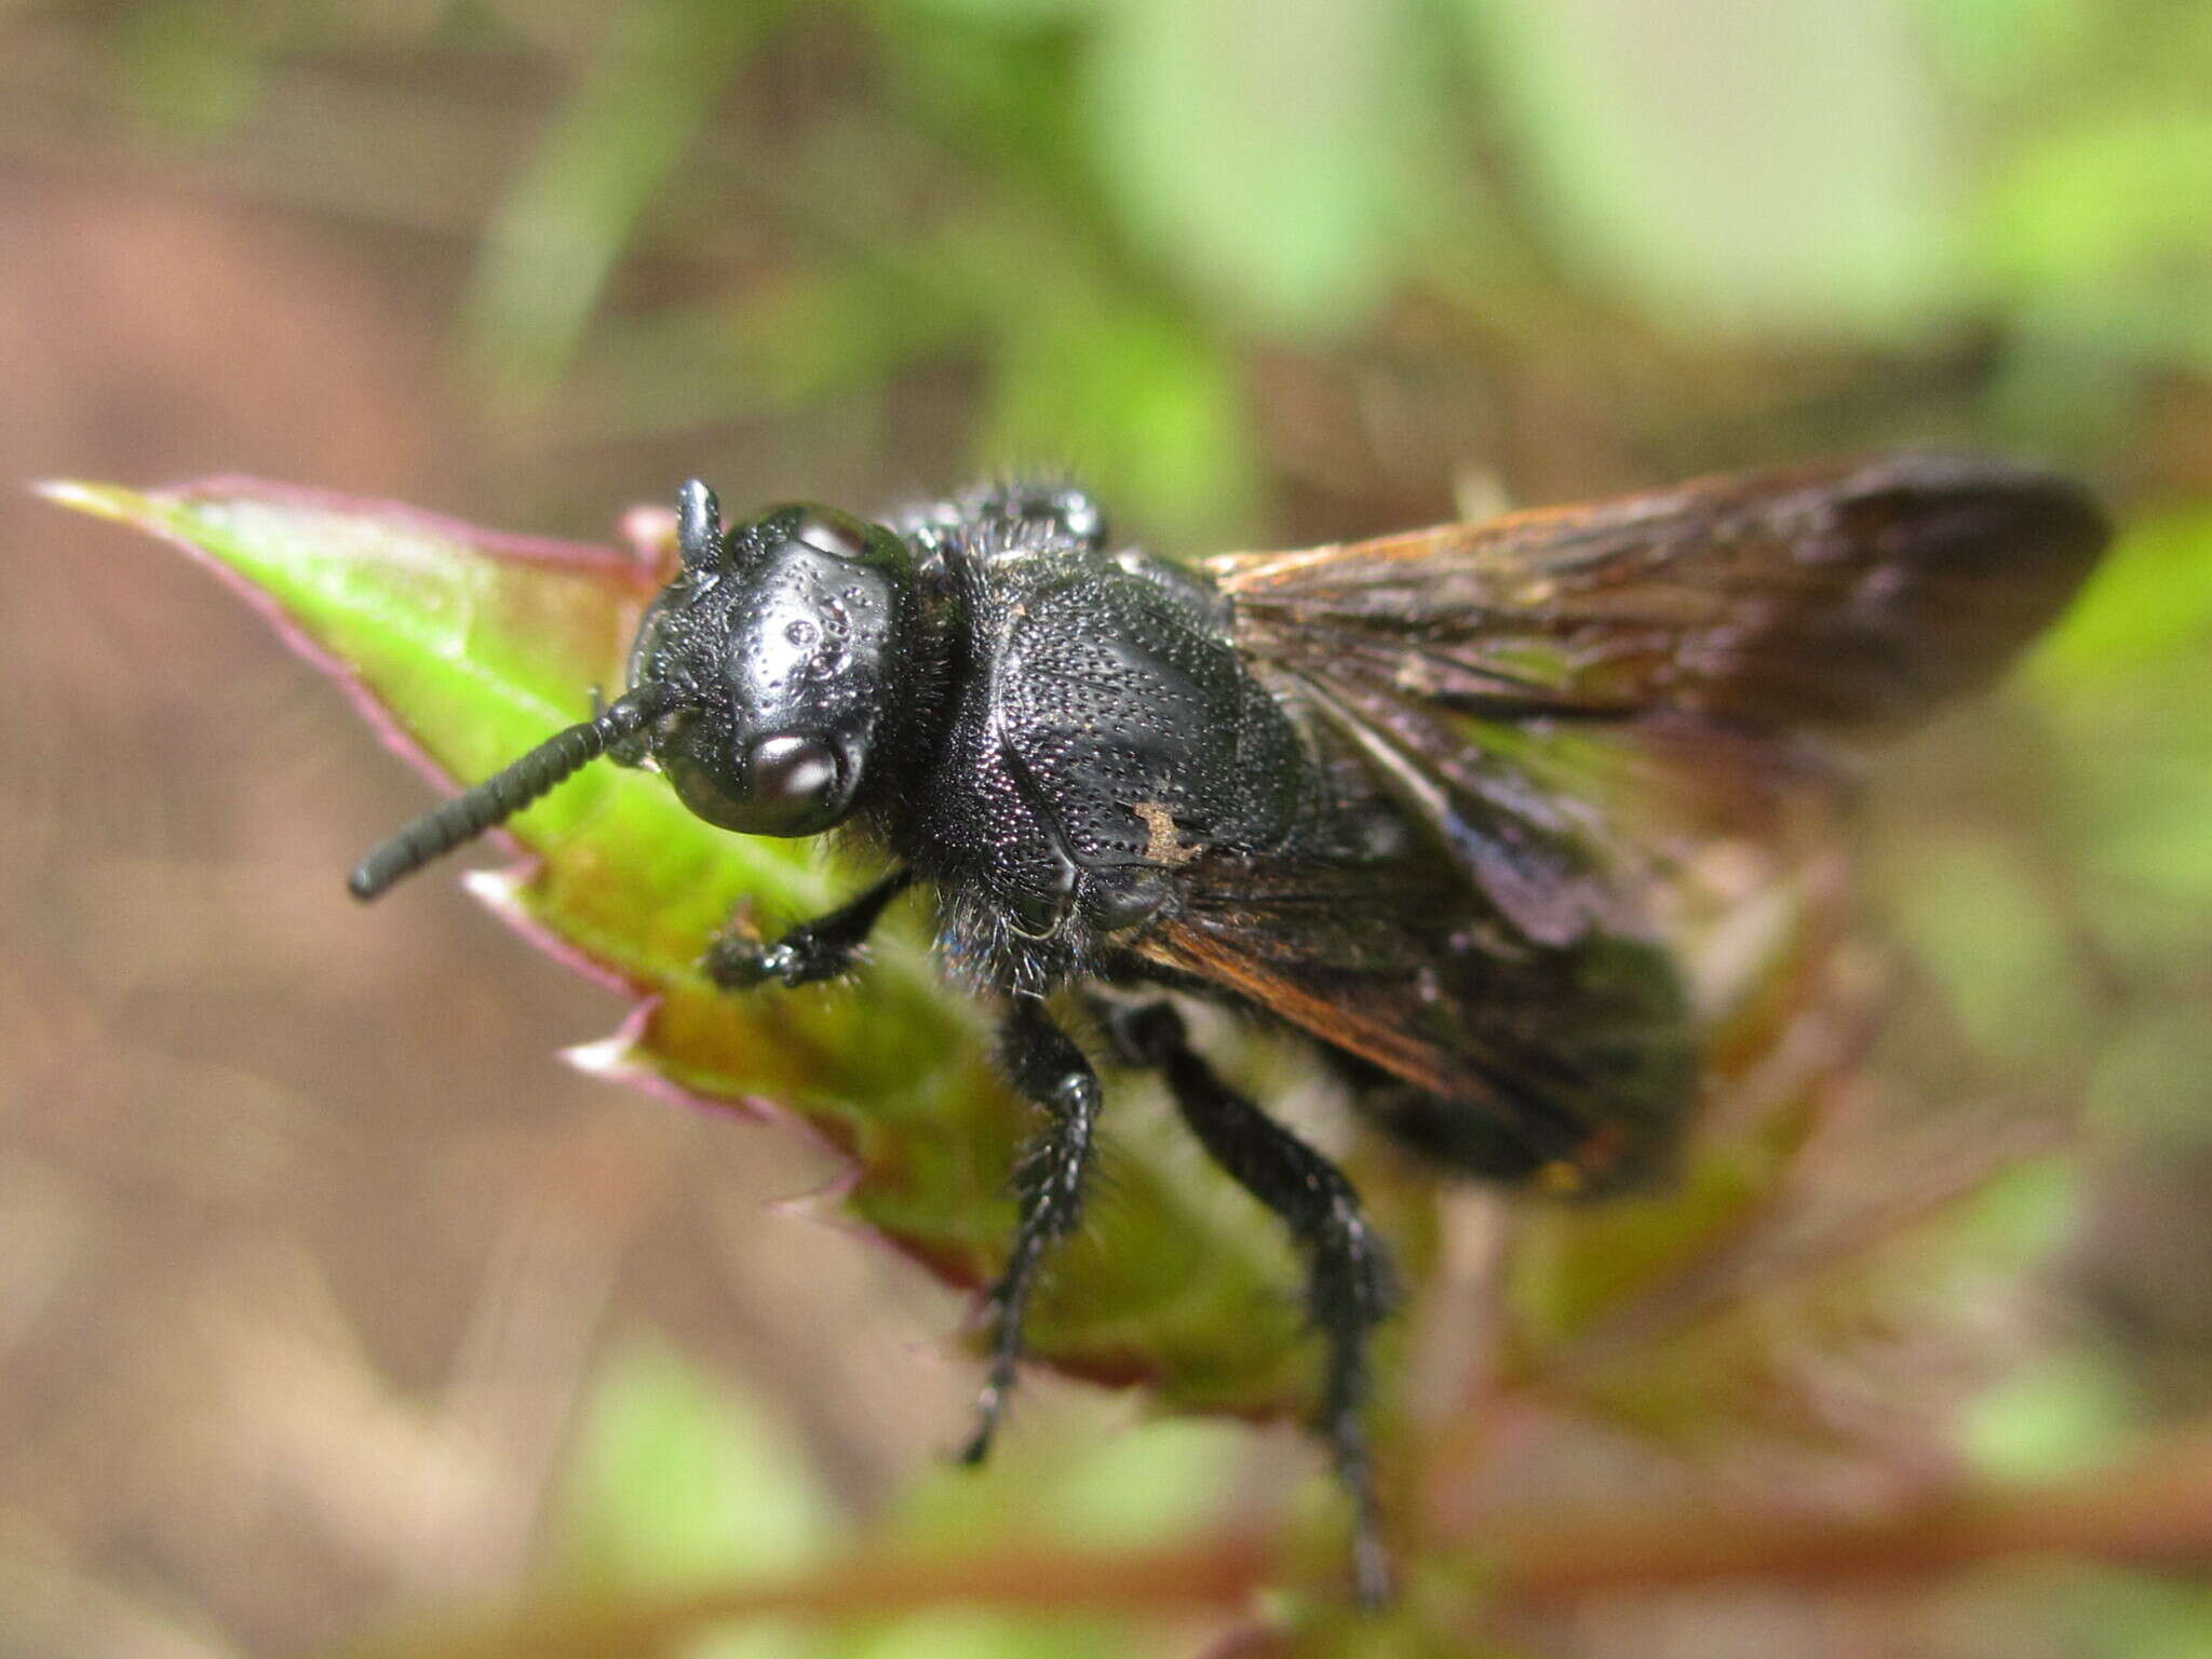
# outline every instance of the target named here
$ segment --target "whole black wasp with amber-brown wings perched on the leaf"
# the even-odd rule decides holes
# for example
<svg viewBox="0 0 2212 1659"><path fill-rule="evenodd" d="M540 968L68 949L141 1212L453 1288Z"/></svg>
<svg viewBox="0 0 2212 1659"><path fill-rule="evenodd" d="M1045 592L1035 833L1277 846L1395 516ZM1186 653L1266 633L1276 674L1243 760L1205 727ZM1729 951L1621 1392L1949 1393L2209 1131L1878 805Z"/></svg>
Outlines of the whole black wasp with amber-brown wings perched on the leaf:
<svg viewBox="0 0 2212 1659"><path fill-rule="evenodd" d="M726 830L843 825L891 858L772 945L717 938L717 984L843 973L927 883L1040 1110L971 1460L1082 1203L1099 1079L1046 998L1086 987L1115 1057L1164 1075L1307 1256L1321 1431L1374 1597L1360 1400L1389 1254L1336 1166L1144 991L1296 1026L1447 1170L1644 1186L1699 1097L1666 945L1683 847L1781 816L1834 772L1825 739L1993 677L2104 540L2064 480L1933 456L1199 566L1117 546L1075 489L978 489L889 524L779 507L723 531L688 482L684 566L622 697L376 847L352 889L374 898L599 754L657 765Z"/></svg>

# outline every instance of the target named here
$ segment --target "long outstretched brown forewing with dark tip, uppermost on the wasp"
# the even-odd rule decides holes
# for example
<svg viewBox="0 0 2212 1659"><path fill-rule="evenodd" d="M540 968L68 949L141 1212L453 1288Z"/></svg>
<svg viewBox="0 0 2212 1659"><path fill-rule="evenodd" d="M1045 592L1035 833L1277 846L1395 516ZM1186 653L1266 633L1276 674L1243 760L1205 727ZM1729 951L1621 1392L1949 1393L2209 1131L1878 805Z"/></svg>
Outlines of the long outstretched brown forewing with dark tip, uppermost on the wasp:
<svg viewBox="0 0 2212 1659"><path fill-rule="evenodd" d="M1847 728L1989 681L2106 535L2062 478L1896 456L1208 568L1256 655L1478 714Z"/></svg>

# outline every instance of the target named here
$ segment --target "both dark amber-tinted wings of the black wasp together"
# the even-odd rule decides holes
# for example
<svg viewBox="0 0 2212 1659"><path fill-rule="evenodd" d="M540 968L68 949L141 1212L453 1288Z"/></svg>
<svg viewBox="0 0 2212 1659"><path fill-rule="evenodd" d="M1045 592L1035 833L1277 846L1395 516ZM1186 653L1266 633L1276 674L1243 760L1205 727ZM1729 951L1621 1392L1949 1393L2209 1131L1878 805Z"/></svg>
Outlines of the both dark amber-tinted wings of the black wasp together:
<svg viewBox="0 0 2212 1659"><path fill-rule="evenodd" d="M1199 858L1139 949L1420 1091L1398 1126L1471 1168L1632 1181L1697 1095L1683 947L1803 869L1825 739L1995 677L2104 540L2064 480L1898 456L1214 560L1338 805L1416 836Z"/></svg>

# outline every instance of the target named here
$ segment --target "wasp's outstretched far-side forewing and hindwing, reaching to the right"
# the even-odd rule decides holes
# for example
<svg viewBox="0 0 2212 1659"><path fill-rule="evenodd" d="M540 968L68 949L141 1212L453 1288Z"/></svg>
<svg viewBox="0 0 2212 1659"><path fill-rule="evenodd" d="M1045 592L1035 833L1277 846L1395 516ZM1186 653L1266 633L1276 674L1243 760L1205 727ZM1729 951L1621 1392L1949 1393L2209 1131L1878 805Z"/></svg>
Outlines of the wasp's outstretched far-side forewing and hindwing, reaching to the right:
<svg viewBox="0 0 2212 1659"><path fill-rule="evenodd" d="M1540 942L1635 927L1714 836L1991 679L2106 540L2073 484L1898 456L1230 555L1234 639Z"/></svg>

